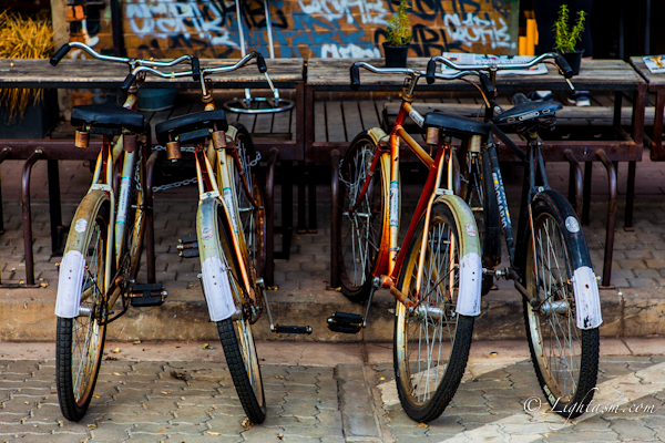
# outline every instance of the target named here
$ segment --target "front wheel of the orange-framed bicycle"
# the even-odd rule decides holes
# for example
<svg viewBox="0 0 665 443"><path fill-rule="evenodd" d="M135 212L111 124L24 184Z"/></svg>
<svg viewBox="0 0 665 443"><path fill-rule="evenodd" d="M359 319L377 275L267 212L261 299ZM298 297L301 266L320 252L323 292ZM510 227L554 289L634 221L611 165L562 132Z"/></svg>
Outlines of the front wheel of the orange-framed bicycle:
<svg viewBox="0 0 665 443"><path fill-rule="evenodd" d="M375 140L368 132L362 132L351 142L339 171L342 183L339 281L341 293L357 302L365 301L369 297L372 270L388 228L389 169L386 169L382 163L378 165L370 178L365 198L352 215L348 215L349 208L362 190L377 152Z"/></svg>

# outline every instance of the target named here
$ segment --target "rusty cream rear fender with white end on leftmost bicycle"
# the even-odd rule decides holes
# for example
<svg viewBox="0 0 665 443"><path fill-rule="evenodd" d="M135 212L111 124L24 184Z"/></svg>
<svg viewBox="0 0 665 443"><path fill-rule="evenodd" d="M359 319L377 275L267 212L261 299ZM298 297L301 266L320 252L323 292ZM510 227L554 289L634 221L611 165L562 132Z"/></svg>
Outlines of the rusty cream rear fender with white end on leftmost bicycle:
<svg viewBox="0 0 665 443"><path fill-rule="evenodd" d="M58 296L55 298L55 315L61 318L79 317L81 307L81 284L85 271L85 255L83 250L90 241L94 220L90 218L100 207L109 202L103 190L91 190L81 200L66 237L64 255L60 262L58 275ZM106 245L106 247L112 247Z"/></svg>

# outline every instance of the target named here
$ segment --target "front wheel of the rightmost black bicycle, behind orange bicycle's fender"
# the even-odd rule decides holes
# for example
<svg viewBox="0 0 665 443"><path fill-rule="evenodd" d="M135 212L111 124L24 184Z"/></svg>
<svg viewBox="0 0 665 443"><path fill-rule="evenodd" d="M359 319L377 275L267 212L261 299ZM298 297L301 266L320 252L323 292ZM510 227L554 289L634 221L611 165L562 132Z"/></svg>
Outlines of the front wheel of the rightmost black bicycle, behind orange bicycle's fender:
<svg viewBox="0 0 665 443"><path fill-rule="evenodd" d="M494 193L492 166L487 151L467 152L462 166L461 197L467 202L475 218L482 265L494 269L501 262L501 218L499 203ZM482 295L492 289L494 278L490 274L482 276Z"/></svg>

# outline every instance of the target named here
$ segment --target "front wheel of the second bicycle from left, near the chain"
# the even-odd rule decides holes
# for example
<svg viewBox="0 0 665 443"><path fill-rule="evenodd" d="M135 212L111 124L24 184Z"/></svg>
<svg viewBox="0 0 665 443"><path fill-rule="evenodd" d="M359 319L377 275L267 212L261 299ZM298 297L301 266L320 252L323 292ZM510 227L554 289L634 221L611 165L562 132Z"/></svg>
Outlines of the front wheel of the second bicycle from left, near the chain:
<svg viewBox="0 0 665 443"><path fill-rule="evenodd" d="M234 167L234 184L236 195L238 196L238 215L243 226L243 235L249 259L256 269L257 276L265 274L266 266L266 208L265 192L263 183L256 174L256 167L252 167L252 162L257 157L256 148L247 128L241 123L232 123L236 128L235 143L238 151L238 158L245 171L247 187L252 193L254 202L258 208L254 208L247 197L242 177L236 167Z"/></svg>

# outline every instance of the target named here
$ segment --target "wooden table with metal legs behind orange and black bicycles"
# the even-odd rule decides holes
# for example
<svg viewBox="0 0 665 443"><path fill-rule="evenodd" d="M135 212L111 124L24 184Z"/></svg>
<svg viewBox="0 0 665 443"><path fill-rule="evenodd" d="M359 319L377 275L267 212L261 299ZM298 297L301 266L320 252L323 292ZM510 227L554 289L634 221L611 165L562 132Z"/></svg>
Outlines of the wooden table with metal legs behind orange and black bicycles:
<svg viewBox="0 0 665 443"><path fill-rule="evenodd" d="M409 68L427 68L429 59L409 59ZM349 89L349 68L360 60L351 59L310 59L307 62L307 80L305 87L306 112L305 127L305 161L306 162L329 162L330 152L335 148L342 150L348 143L326 142L320 143L314 140L315 113L314 103L317 92L327 91L350 91ZM376 66L383 66L381 59L362 59ZM544 75L498 75L497 89L505 93L529 92L532 90L569 91L570 87L563 78L557 73L556 68L548 64L548 74ZM371 91L400 91L405 76L375 74L360 69L360 92ZM635 162L642 159L642 140L644 130L644 106L646 99L646 82L628 65L621 60L591 60L583 61L580 75L573 79L573 84L581 91L611 91L615 94L613 126L615 137L610 141L589 140L583 142L554 141L544 142L542 152L545 161L550 162L585 162L584 189L582 219L589 220L589 202L591 199L591 172L592 162L603 162L610 177L610 204L607 214L607 236L605 246L605 259L603 282L604 287L610 287L612 250L614 244L614 225L616 213L616 168L613 162L628 162L628 188L626 195L625 228L632 229L633 199L635 185ZM456 81L437 81L428 85L424 79L421 79L417 91L475 91L469 83ZM633 115L630 127L622 127L622 99L624 95L633 99ZM416 95L418 99L418 95ZM417 102L417 101L416 101ZM501 148L499 152L503 161L515 161L516 157L508 150ZM577 172L574 174L574 168ZM581 181L579 167L571 164L571 182L574 177ZM310 196L311 197L311 196ZM311 198L310 198L311 199ZM579 202L577 202L579 203Z"/></svg>

